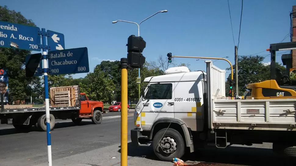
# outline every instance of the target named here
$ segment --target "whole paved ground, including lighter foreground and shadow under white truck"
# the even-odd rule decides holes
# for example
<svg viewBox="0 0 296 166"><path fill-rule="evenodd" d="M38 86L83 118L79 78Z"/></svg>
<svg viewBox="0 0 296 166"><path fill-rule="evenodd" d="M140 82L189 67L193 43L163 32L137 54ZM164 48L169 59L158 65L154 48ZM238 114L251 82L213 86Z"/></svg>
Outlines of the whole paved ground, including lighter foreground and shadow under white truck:
<svg viewBox="0 0 296 166"><path fill-rule="evenodd" d="M129 114L132 113L133 110L129 111ZM129 116L128 140L132 128L133 116ZM79 126L74 126L71 120L57 120L54 130L51 131L52 160L55 165L81 165L75 164L78 162L88 163L85 164L88 166L119 165L120 130L120 112L103 114L103 122L97 125L92 124L91 120L83 120ZM233 146L218 150L198 150L186 154L182 160L187 161L187 164L191 164L190 161L204 162L197 164L198 166L296 165L292 163L295 160L273 154L272 144L252 147ZM46 132L36 131L33 127L29 133L16 133L12 125L1 124L0 154L1 166L47 165ZM128 143L128 156L129 165L172 165L170 162L158 161L152 147L137 148Z"/></svg>

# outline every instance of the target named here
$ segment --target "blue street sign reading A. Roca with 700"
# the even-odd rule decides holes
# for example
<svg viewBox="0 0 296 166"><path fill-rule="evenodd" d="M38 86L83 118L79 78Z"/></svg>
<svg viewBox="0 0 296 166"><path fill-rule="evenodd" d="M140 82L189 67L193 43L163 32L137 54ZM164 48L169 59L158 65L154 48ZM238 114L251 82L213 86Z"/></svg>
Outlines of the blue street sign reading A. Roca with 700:
<svg viewBox="0 0 296 166"><path fill-rule="evenodd" d="M0 47L40 51L39 27L0 21Z"/></svg>

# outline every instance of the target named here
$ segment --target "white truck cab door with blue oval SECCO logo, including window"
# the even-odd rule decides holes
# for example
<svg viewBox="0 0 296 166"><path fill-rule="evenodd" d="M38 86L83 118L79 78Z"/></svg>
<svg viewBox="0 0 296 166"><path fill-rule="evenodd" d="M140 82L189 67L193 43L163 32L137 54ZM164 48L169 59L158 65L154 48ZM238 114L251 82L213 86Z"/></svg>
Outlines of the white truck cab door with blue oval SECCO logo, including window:
<svg viewBox="0 0 296 166"><path fill-rule="evenodd" d="M145 99L141 101L141 127L150 129L153 123L162 118L174 118L175 83L152 83L149 85Z"/></svg>

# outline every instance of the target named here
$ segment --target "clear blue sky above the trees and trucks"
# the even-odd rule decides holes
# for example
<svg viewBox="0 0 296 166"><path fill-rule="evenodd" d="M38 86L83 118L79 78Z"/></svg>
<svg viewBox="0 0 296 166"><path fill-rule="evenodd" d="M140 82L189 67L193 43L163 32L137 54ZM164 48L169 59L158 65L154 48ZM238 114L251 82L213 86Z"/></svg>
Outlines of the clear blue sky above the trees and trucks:
<svg viewBox="0 0 296 166"><path fill-rule="evenodd" d="M234 64L234 43L227 0L37 0L5 1L10 10L21 12L40 28L65 36L66 49L87 47L90 71L102 60L126 57L128 36L137 35L137 26L112 21L121 19L143 22L140 36L146 41L143 55L155 61L168 52L179 56L225 57ZM250 55L279 43L290 32L293 0L245 0L243 6L238 55ZM229 0L235 45L238 43L241 1ZM287 37L283 42L289 42ZM265 51L258 55L266 56ZM277 62L281 63L278 56ZM192 70L205 70L204 61L176 58L175 62L189 63ZM270 56L264 62L270 62ZM229 67L224 61L214 63L221 69ZM75 74L74 78L86 73Z"/></svg>

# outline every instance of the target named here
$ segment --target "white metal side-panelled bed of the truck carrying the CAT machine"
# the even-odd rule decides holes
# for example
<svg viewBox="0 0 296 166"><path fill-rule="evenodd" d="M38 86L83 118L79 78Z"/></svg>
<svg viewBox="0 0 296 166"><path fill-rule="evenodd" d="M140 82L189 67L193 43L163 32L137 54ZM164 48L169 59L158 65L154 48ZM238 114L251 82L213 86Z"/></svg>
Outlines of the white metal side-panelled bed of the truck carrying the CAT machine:
<svg viewBox="0 0 296 166"><path fill-rule="evenodd" d="M293 130L296 99L212 100L212 129Z"/></svg>

